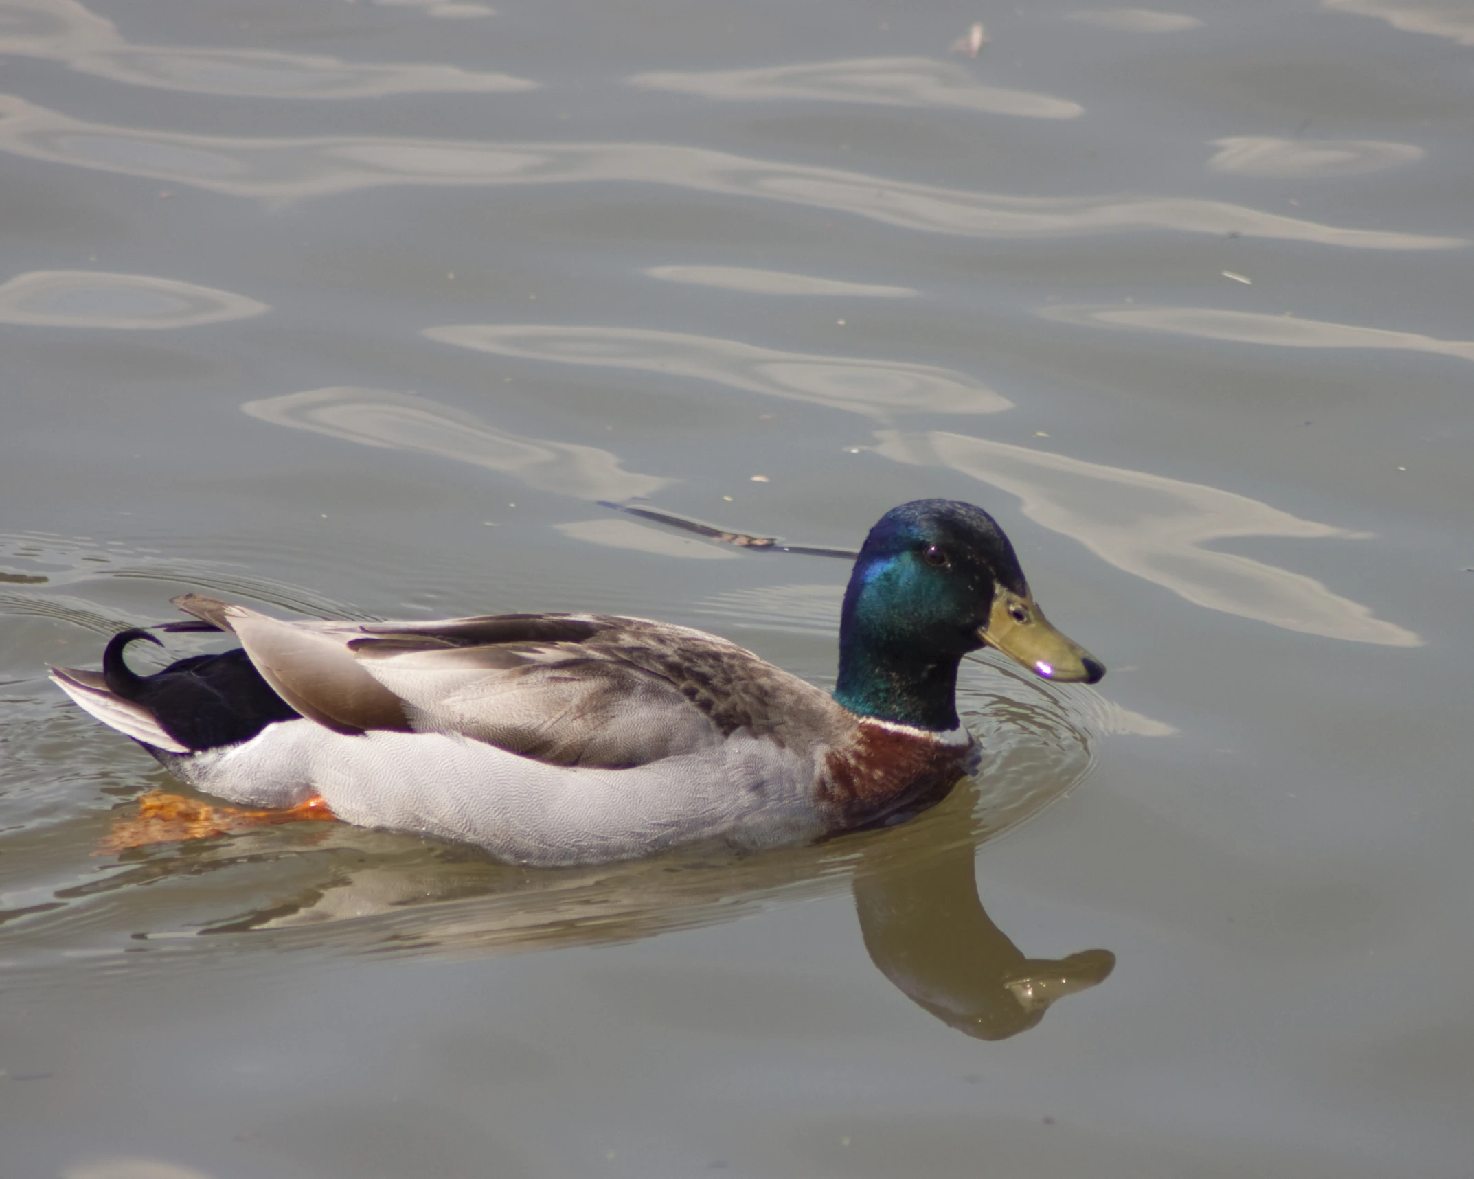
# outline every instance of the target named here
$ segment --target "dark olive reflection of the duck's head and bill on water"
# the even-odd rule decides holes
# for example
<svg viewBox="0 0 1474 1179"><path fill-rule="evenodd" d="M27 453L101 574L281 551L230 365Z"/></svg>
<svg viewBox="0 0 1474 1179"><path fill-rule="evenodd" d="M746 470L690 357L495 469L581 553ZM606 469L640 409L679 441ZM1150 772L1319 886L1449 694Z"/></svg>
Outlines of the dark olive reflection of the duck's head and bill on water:
<svg viewBox="0 0 1474 1179"><path fill-rule="evenodd" d="M1095 986L1116 965L1106 949L1024 958L977 899L970 842L874 856L855 874L855 909L880 973L977 1039L1026 1032L1055 999Z"/></svg>

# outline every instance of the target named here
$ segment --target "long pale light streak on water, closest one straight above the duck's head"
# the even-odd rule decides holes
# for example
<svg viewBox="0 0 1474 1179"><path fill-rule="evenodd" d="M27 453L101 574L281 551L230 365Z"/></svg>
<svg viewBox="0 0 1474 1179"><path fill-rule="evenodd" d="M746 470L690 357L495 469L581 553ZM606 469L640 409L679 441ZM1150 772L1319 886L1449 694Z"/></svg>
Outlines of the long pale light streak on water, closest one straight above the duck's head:
<svg viewBox="0 0 1474 1179"><path fill-rule="evenodd" d="M635 327L469 324L429 327L432 340L523 360L635 368L696 377L752 393L808 401L871 417L890 411L992 414L1011 401L951 368L821 357L684 332Z"/></svg>

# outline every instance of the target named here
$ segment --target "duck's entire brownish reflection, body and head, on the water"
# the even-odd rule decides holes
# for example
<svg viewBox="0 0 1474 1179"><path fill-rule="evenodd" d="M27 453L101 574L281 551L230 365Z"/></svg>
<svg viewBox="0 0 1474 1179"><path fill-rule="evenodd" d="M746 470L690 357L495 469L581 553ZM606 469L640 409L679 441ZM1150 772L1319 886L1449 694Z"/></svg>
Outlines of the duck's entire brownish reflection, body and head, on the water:
<svg viewBox="0 0 1474 1179"><path fill-rule="evenodd" d="M736 859L660 856L581 870L497 865L450 846L411 850L402 836L335 824L299 833L298 840L299 852L302 843L329 852L333 868L326 878L320 874L286 903L279 895L203 931L237 934L230 939L236 948L259 945L265 936L283 948L312 943L376 956L473 958L641 940L834 892L848 877L865 949L880 973L951 1027L979 1039L1007 1039L1038 1024L1061 995L1103 982L1116 956L1088 949L1060 959L1027 958L992 923L973 871L980 834L971 834L970 818L977 802L977 788L967 781L918 821L821 847ZM276 859L265 844L284 836L279 828L217 842L214 849L184 846L124 875L144 884L209 871L209 861L220 868L259 864L262 855ZM395 843L399 855L391 850Z"/></svg>

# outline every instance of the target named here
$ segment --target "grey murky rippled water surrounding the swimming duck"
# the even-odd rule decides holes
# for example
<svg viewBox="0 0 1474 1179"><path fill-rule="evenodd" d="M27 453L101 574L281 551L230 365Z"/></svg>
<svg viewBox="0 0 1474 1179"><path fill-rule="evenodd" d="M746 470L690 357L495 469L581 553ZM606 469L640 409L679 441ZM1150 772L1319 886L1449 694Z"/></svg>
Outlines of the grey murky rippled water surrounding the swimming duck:
<svg viewBox="0 0 1474 1179"><path fill-rule="evenodd" d="M1468 1175L1471 127L1418 0L0 0L0 1173ZM175 592L825 682L843 561L600 501L921 495L1111 675L905 828L96 852L41 665Z"/></svg>

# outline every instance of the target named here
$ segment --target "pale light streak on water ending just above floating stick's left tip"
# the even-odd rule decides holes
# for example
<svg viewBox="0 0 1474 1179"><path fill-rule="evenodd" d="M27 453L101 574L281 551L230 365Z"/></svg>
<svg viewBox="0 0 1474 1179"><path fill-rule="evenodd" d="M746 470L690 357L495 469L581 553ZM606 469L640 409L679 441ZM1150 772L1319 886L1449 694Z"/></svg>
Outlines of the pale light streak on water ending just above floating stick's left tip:
<svg viewBox="0 0 1474 1179"><path fill-rule="evenodd" d="M248 401L240 408L276 426L454 458L576 500L653 495L671 482L624 470L618 455L597 447L504 433L450 405L388 389L311 389Z"/></svg>

